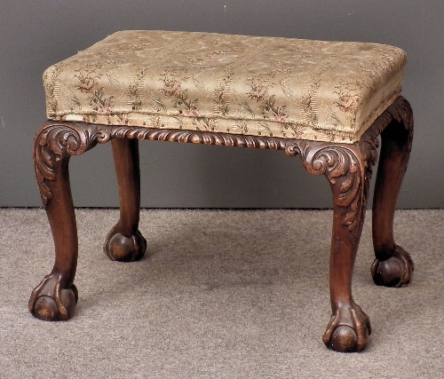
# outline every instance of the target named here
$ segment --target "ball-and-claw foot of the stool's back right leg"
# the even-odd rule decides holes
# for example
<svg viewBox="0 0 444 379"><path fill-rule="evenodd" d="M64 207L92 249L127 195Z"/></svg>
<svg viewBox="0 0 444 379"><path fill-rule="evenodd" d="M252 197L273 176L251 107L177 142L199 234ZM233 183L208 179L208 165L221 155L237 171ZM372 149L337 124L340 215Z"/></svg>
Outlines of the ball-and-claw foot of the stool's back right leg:
<svg viewBox="0 0 444 379"><path fill-rule="evenodd" d="M392 257L385 261L375 259L371 276L378 286L402 287L411 280L415 265L408 252L396 245Z"/></svg>

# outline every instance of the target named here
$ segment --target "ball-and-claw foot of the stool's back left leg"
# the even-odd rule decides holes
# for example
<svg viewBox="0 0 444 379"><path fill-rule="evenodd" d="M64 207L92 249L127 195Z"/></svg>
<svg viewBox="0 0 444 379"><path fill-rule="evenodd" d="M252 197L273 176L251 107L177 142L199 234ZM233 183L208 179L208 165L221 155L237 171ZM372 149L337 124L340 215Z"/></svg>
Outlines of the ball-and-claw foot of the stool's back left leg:
<svg viewBox="0 0 444 379"><path fill-rule="evenodd" d="M113 261L119 262L135 262L144 256L147 249L147 240L137 231L131 237L125 237L122 233L117 232L115 225L107 235L107 241L103 246L103 250L107 257Z"/></svg>

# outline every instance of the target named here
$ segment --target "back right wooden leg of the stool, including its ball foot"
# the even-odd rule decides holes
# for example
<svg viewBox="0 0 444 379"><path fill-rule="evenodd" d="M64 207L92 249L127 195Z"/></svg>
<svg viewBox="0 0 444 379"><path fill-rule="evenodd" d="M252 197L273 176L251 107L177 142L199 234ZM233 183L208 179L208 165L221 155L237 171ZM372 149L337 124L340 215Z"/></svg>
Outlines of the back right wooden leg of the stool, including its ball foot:
<svg viewBox="0 0 444 379"><path fill-rule="evenodd" d="M401 287L411 280L415 268L408 252L393 238L393 217L413 140L413 113L408 101L399 98L385 112L385 130L377 170L373 201L373 245L371 267L377 285Z"/></svg>

